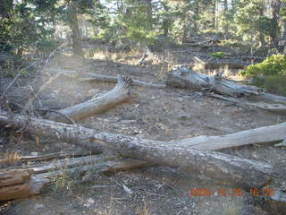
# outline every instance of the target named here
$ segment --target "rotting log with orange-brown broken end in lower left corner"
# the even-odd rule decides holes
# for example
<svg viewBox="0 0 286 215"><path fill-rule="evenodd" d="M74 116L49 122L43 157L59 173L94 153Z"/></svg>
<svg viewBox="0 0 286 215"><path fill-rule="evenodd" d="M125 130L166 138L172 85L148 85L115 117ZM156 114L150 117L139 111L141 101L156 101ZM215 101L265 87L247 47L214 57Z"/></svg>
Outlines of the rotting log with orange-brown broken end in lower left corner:
<svg viewBox="0 0 286 215"><path fill-rule="evenodd" d="M120 159L106 155L61 159L46 166L29 169L2 170L0 172L0 201L29 197L41 192L50 183L52 176L63 173L82 174L115 172L146 166L147 162L135 159Z"/></svg>

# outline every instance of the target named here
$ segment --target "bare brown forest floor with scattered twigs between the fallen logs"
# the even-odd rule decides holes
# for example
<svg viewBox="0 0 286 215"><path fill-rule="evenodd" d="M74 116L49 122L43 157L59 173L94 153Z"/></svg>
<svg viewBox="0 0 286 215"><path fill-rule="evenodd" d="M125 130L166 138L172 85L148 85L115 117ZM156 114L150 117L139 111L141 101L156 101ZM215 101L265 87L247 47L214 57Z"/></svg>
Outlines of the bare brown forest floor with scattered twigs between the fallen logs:
<svg viewBox="0 0 286 215"><path fill-rule="evenodd" d="M189 49L188 49L189 48ZM138 53L95 54L78 62L70 56L55 57L48 66L57 69L80 70L80 73L121 73L146 82L164 82L168 67L174 64L192 64L190 54L178 50L194 51L191 47L170 48L163 54L150 57L146 64L138 64ZM107 58L106 58L107 57ZM214 71L201 71L213 73ZM230 79L238 80L238 71L227 71ZM43 81L48 76L43 77ZM112 83L80 82L61 76L48 85L40 95L43 107L69 107L90 99L97 93L114 88ZM286 121L286 116L271 114L257 108L237 107L229 101L208 98L200 91L183 89L147 89L131 87L132 97L100 116L90 117L83 125L97 131L124 133L146 139L172 141L198 135L235 133ZM1 140L2 143L1 143ZM45 142L45 143L44 143ZM77 150L78 147L63 142L33 137L17 142L4 142L0 136L1 151L16 151L21 155L31 152L45 154L60 150ZM278 188L286 182L286 148L273 145L249 146L222 150L246 159L257 159L273 165L273 185ZM4 156L4 153L1 154ZM68 180L68 179L67 179ZM126 193L118 183L128 186L133 194ZM54 215L54 214L279 214L270 209L262 197L249 193L243 196L190 196L191 188L209 188L212 191L240 188L225 185L204 176L182 173L180 169L151 166L118 173L93 176L86 183L63 186L59 181L45 188L44 193L24 200L5 202L3 214ZM100 188L95 185L104 185ZM106 185L106 186L105 186ZM256 187L254 187L256 188Z"/></svg>

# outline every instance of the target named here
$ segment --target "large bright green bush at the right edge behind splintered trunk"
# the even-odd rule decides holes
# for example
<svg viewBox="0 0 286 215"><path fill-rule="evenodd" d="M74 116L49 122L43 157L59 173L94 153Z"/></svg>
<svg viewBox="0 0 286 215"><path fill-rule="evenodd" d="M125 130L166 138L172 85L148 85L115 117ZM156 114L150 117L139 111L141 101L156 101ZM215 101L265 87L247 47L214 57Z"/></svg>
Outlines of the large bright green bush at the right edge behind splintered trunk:
<svg viewBox="0 0 286 215"><path fill-rule="evenodd" d="M251 84L272 93L286 95L286 56L282 54L267 57L262 63L249 65L241 73L251 78Z"/></svg>

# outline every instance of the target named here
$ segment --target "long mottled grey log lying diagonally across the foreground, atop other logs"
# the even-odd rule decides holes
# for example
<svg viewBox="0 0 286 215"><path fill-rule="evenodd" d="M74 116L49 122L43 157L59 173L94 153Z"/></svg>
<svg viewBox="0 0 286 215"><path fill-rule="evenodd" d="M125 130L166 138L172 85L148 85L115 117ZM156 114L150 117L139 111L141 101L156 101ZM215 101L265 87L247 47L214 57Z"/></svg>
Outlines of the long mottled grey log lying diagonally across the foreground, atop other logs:
<svg viewBox="0 0 286 215"><path fill-rule="evenodd" d="M97 133L80 125L67 125L27 116L8 116L3 111L0 112L0 122L14 127L23 127L29 123L26 129L30 133L97 150L107 147L125 157L198 171L211 178L244 188L260 187L271 180L271 165L220 152L197 150L183 145L143 140L122 134Z"/></svg>

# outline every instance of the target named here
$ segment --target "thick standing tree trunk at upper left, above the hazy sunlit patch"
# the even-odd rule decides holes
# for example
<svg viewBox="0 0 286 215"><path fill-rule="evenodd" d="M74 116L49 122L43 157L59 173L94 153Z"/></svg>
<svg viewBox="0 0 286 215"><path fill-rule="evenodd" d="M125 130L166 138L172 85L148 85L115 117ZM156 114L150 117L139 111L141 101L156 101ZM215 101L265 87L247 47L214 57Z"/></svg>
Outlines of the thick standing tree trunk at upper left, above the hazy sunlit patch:
<svg viewBox="0 0 286 215"><path fill-rule="evenodd" d="M75 55L83 56L83 51L80 41L80 28L77 14L77 6L74 1L69 3L69 13L70 13L70 25L71 25L71 39L72 39L72 49Z"/></svg>

